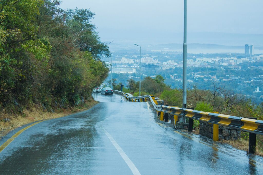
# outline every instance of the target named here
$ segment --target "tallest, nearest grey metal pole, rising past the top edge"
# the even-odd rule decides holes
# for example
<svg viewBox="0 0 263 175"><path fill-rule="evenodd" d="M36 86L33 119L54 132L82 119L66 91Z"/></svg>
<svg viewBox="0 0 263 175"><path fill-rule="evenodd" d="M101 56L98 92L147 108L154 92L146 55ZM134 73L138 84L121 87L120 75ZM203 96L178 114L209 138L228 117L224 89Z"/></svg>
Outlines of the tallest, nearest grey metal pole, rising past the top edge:
<svg viewBox="0 0 263 175"><path fill-rule="evenodd" d="M187 0L184 0L184 46L183 46L183 108L186 108L186 53L187 53L187 44L186 44L186 24L187 24Z"/></svg>

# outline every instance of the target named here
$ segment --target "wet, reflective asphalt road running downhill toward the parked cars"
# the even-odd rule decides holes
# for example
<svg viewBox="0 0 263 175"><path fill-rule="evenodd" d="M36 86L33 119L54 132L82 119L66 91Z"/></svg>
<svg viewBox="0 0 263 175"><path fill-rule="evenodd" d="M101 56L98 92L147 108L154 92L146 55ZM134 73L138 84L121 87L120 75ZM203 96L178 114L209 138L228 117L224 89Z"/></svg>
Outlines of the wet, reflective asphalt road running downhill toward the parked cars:
<svg viewBox="0 0 263 175"><path fill-rule="evenodd" d="M25 130L0 153L0 174L263 174L262 157L164 128L146 102L98 100Z"/></svg>

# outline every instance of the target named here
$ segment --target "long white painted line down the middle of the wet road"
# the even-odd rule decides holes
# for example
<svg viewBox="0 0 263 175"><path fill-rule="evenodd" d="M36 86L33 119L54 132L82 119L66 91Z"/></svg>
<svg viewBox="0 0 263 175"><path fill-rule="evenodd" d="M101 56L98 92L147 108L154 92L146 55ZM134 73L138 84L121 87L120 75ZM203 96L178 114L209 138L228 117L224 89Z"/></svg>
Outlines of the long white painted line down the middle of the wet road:
<svg viewBox="0 0 263 175"><path fill-rule="evenodd" d="M135 165L132 163L132 161L129 159L129 157L125 154L125 152L122 150L122 148L117 144L117 142L113 139L113 137L103 128L103 126L99 125L99 127L102 129L102 131L107 135L107 137L112 142L113 146L117 149L119 154L122 156L123 160L127 163L130 170L134 175L141 175L139 170L135 167Z"/></svg>

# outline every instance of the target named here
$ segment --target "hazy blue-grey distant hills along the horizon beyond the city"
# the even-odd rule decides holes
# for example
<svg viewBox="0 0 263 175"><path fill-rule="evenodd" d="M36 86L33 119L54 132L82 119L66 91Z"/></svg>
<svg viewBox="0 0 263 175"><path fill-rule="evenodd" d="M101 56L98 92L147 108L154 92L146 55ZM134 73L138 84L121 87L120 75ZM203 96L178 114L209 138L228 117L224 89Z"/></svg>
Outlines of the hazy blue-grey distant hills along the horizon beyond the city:
<svg viewBox="0 0 263 175"><path fill-rule="evenodd" d="M116 35L116 36L115 36ZM183 33L159 33L153 35L149 31L147 36L125 36L115 34L109 47L113 50L136 49L136 43L146 50L182 50ZM170 43L170 44L167 44ZM187 35L187 48L193 52L244 52L245 44L253 44L255 53L263 53L263 34L234 34L216 32L189 32ZM218 51L217 51L218 50Z"/></svg>

